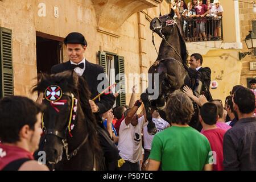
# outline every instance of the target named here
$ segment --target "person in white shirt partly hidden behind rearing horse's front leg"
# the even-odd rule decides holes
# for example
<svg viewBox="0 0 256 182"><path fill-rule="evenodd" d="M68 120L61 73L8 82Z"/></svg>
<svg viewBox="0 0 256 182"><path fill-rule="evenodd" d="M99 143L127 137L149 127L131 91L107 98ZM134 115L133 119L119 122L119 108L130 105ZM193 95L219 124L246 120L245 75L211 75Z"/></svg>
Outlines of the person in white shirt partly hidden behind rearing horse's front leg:
<svg viewBox="0 0 256 182"><path fill-rule="evenodd" d="M152 113L152 121L155 123L157 132L163 131L164 129L167 129L167 127L170 127L170 124L167 121L165 121L164 119L162 119L160 117L160 114L156 110ZM151 144L152 144L152 140L153 140L154 136L155 135L149 135L147 133L147 126L145 126L143 129L143 140L144 140L144 160L143 160L143 162L145 162L147 160L148 156L150 155Z"/></svg>

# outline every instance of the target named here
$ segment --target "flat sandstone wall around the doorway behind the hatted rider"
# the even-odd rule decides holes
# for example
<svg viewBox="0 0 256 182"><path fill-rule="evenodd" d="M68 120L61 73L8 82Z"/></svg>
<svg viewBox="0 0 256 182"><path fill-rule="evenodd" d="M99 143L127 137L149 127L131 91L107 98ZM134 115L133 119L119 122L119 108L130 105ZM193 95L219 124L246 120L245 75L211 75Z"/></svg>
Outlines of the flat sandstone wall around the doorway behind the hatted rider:
<svg viewBox="0 0 256 182"><path fill-rule="evenodd" d="M16 95L36 99L36 94L30 92L32 85L36 83L37 77L36 31L61 38L72 31L81 32L88 42L85 52L86 59L98 64L98 51L113 52L125 57L126 73L141 73L139 14L134 13L120 27L115 28L117 37L104 34L97 31L97 12L93 4L95 2L87 0L0 2L0 26L13 30L14 93ZM142 5L142 2L145 2L145 5ZM159 2L162 1L138 1L138 7L150 7L157 5ZM116 5L116 7L118 6L122 7L124 5ZM59 9L59 18L56 18L53 14L54 7ZM159 15L159 7L155 9L157 15ZM109 11L110 14L115 13L111 9ZM126 14L129 14L129 12ZM118 14L115 16L118 16ZM108 19L104 19L104 17L100 20L108 22ZM143 26L145 31L149 30L149 22L143 24ZM153 52L154 50L152 45L148 45L144 52ZM67 59L68 57L64 51L64 60ZM143 72L146 72L145 70ZM127 89L130 90L133 85L127 86L129 86ZM140 88L140 85L138 86ZM127 94L127 102L129 102L129 98L130 94Z"/></svg>

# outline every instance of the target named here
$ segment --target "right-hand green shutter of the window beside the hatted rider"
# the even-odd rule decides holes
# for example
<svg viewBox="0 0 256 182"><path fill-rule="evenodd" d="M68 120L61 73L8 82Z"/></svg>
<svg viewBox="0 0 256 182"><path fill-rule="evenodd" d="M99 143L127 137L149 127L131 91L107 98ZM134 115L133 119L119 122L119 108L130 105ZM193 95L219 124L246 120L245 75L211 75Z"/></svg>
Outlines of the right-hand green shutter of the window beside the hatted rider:
<svg viewBox="0 0 256 182"><path fill-rule="evenodd" d="M117 106L125 106L126 105L126 94L125 94L125 58L123 56L115 56L115 75L119 74L118 80L115 82L121 82L117 86L115 90L121 89L121 93L117 98Z"/></svg>

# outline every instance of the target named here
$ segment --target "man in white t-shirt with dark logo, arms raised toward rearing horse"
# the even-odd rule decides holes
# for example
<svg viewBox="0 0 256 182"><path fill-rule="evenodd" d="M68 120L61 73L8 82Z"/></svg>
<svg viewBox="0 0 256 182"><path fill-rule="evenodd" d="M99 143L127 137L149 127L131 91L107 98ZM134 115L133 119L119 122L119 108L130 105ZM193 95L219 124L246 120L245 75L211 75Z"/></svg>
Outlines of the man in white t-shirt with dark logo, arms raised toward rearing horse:
<svg viewBox="0 0 256 182"><path fill-rule="evenodd" d="M142 155L142 128L147 125L146 114L138 118L137 110L141 106L141 100L135 102L134 106L127 113L126 118L121 122L119 128L118 150L119 156L125 160L121 171L140 171L139 160ZM146 113L146 112L144 112Z"/></svg>

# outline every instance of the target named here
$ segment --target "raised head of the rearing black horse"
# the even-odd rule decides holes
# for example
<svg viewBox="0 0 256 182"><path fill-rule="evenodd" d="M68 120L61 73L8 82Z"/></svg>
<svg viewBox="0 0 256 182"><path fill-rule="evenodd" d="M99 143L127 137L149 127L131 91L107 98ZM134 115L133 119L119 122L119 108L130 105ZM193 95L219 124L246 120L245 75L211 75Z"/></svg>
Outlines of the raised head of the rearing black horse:
<svg viewBox="0 0 256 182"><path fill-rule="evenodd" d="M161 38L164 36L170 35L171 30L174 27L174 10L171 9L171 13L168 15L159 16L154 18L150 22L150 30L154 31Z"/></svg>

